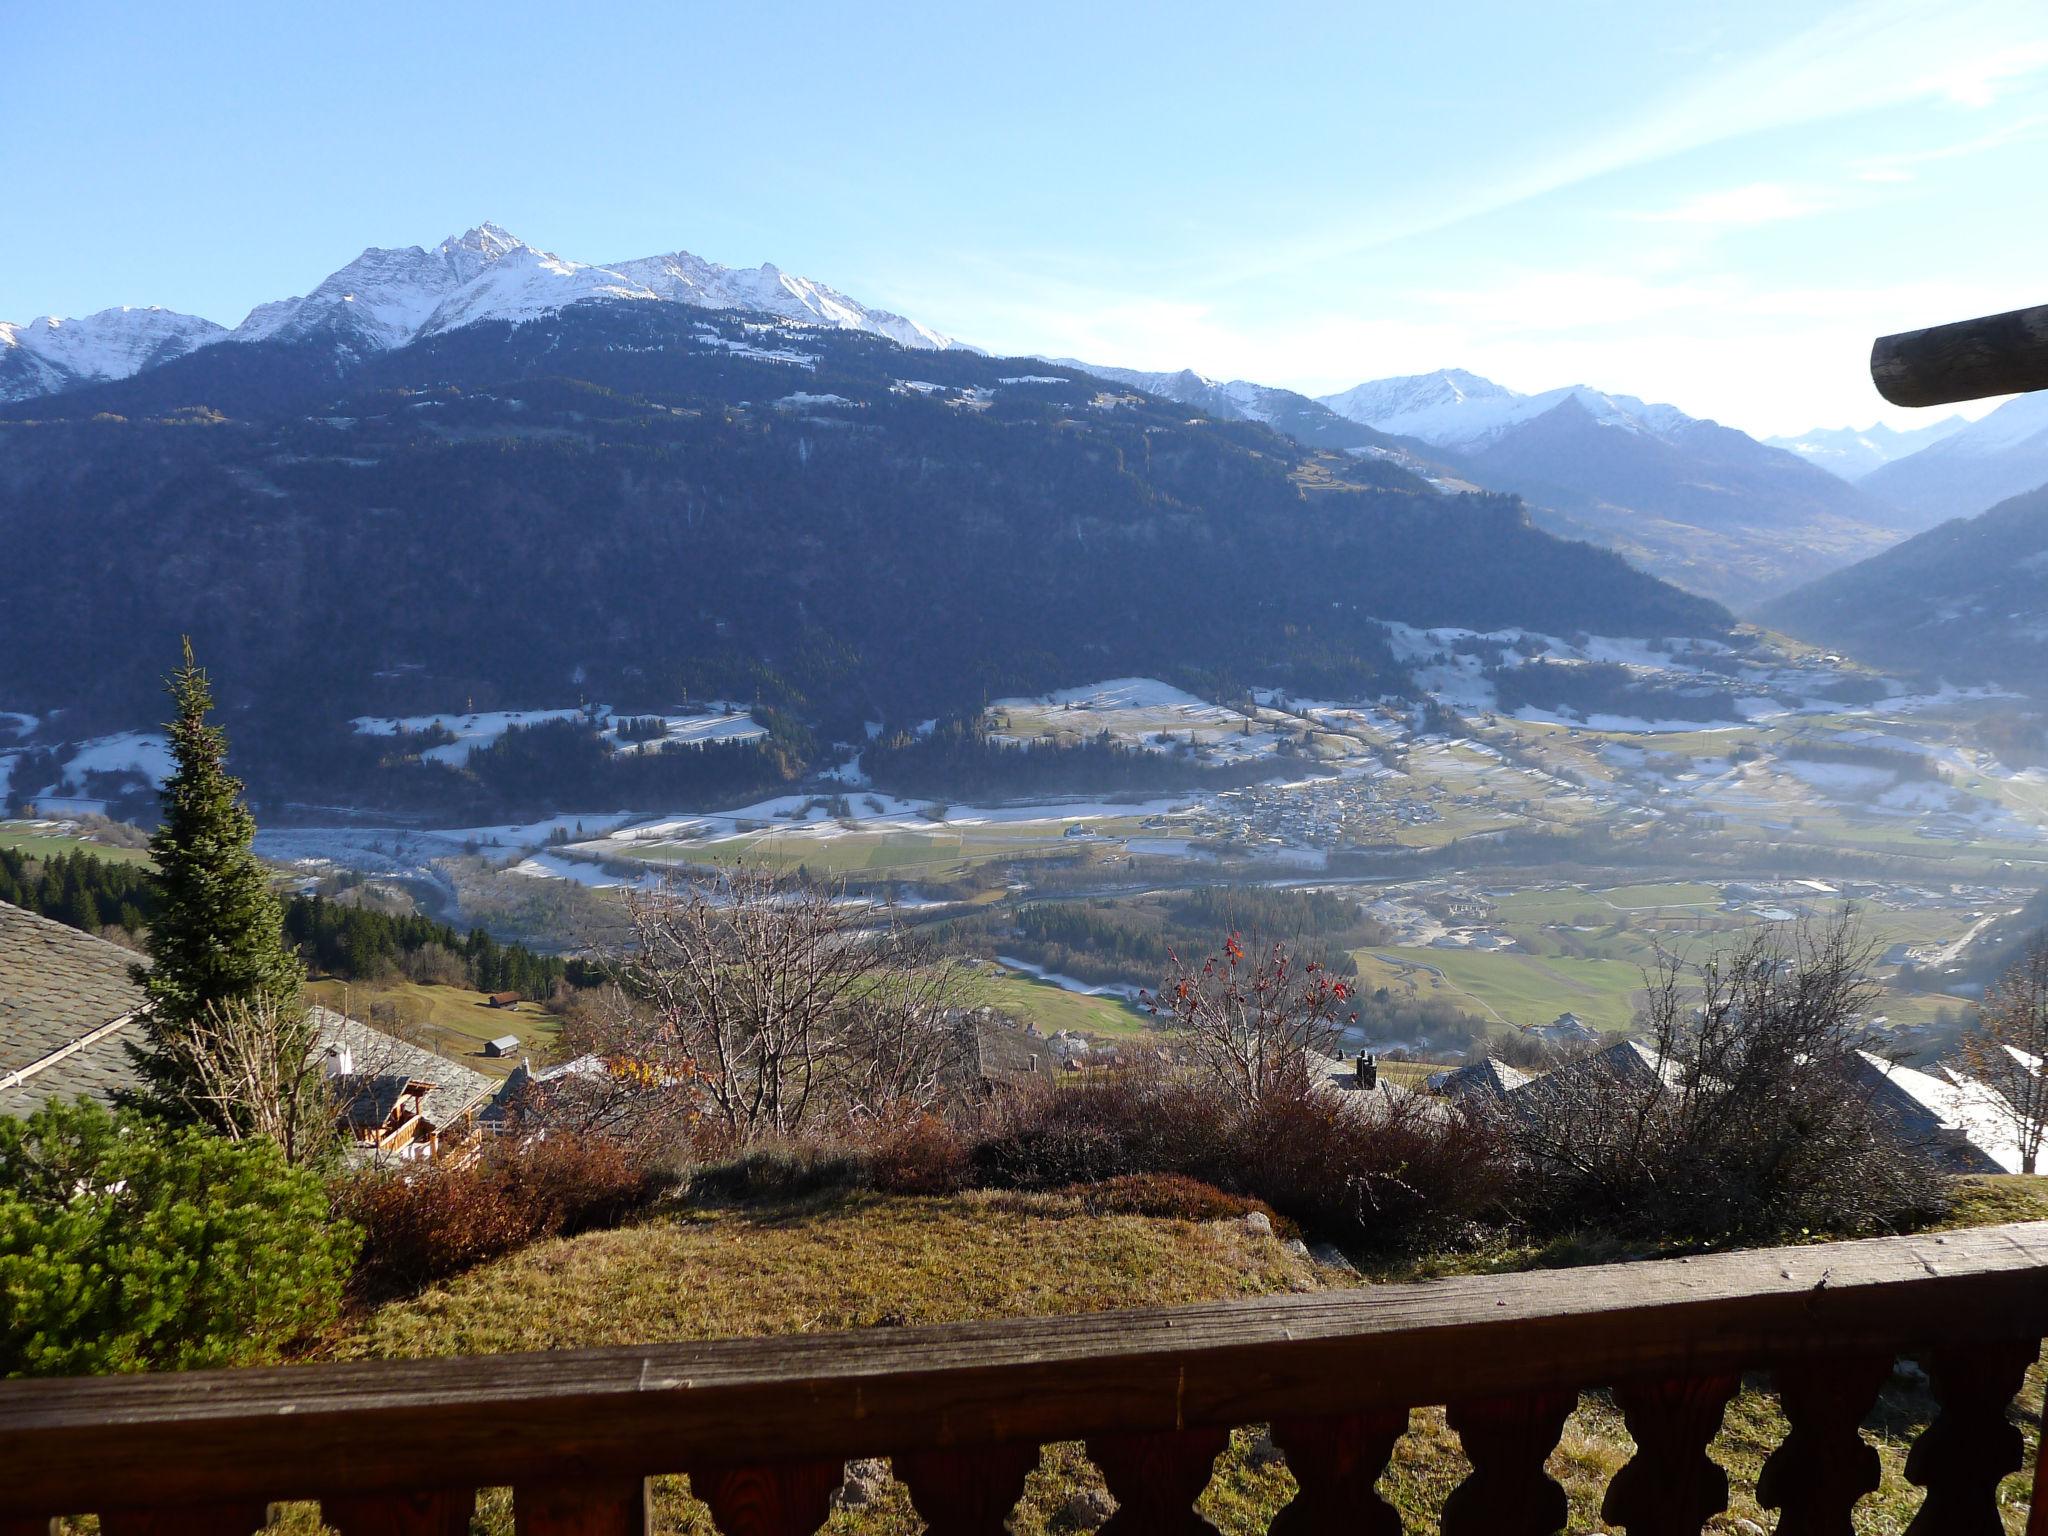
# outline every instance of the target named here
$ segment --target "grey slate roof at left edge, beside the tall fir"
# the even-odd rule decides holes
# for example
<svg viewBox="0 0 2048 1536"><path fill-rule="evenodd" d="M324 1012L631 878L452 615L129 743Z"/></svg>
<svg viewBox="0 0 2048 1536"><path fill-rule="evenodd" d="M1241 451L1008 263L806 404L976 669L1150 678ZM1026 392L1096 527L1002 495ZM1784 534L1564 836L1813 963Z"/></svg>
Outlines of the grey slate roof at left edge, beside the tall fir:
<svg viewBox="0 0 2048 1536"><path fill-rule="evenodd" d="M47 1100L141 1087L129 1040L143 993L129 979L139 956L0 901L0 1114Z"/></svg>

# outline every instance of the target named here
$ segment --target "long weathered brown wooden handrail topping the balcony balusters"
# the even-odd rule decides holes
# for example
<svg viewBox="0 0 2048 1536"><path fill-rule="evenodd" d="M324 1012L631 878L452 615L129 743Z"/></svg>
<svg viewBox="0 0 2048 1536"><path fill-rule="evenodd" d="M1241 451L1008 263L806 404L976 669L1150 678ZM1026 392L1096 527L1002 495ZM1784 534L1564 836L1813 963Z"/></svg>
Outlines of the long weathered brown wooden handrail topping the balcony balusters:
<svg viewBox="0 0 2048 1536"><path fill-rule="evenodd" d="M0 1522L1380 1421L1743 1370L1810 1380L1901 1350L2032 1360L2044 1335L2048 1223L2023 1223L999 1323L16 1380Z"/></svg>

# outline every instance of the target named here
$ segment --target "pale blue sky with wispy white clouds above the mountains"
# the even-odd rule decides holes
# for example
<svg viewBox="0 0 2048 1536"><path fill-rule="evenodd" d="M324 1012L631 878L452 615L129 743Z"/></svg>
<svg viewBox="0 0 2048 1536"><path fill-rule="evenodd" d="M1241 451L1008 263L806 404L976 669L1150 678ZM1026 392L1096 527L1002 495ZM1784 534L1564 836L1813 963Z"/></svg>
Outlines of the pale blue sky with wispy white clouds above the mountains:
<svg viewBox="0 0 2048 1536"><path fill-rule="evenodd" d="M233 324L492 219L995 352L1763 436L1944 416L1872 336L2048 301L2048 0L0 0L0 319Z"/></svg>

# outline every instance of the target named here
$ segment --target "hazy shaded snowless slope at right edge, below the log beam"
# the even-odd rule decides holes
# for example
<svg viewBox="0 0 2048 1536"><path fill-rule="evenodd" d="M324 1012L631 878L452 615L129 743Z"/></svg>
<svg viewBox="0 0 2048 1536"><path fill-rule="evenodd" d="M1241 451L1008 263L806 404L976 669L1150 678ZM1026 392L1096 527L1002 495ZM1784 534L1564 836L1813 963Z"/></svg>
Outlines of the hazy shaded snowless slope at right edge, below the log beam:
<svg viewBox="0 0 2048 1536"><path fill-rule="evenodd" d="M1759 616L1878 666L2048 702L2048 485L1788 592Z"/></svg>

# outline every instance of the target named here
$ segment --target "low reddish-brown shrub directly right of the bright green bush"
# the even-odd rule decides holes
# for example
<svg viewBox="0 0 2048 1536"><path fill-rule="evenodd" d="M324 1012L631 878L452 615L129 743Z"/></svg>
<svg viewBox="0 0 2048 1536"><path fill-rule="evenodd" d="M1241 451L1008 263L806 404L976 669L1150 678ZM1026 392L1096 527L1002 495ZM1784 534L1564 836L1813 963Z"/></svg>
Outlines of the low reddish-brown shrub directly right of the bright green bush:
<svg viewBox="0 0 2048 1536"><path fill-rule="evenodd" d="M645 1165L618 1143L549 1137L463 1165L352 1176L336 1184L336 1206L365 1233L354 1292L377 1300L543 1237L614 1225L651 1194Z"/></svg>

